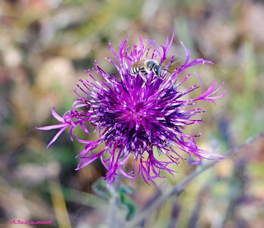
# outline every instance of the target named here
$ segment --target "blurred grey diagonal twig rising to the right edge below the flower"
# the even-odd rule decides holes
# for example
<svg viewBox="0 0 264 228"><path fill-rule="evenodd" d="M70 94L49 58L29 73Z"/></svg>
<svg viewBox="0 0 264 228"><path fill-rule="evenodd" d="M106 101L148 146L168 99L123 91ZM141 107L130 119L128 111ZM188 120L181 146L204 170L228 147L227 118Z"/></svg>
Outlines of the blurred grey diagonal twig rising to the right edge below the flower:
<svg viewBox="0 0 264 228"><path fill-rule="evenodd" d="M224 155L226 155L226 156L234 155L238 151L240 151L241 148L243 148L245 146L248 146L248 145L251 145L256 139L259 139L261 137L264 137L264 132L261 132L256 137L250 137L246 141L244 141L243 143L241 143L241 144L239 144L239 145L237 145L235 147L232 147L231 149L226 151L226 153ZM210 163L208 163L208 164L206 164L204 166L198 167L194 172L189 174L181 182L179 182L178 184L175 184L175 186L173 186L173 188L171 188L171 190L169 190L168 192L160 193L159 196L157 196L156 200L153 200L150 204L148 204L147 207L145 207L142 210L140 210L133 217L133 219L131 219L128 223L126 223L126 225L124 225L124 227L126 227L126 228L134 227L135 225L140 223L143 219L147 218L153 210L158 208L163 203L164 200L167 200L170 196L179 196L179 194L181 194L184 191L185 186L193 178L195 178L201 172L203 172L203 171L207 170L208 168L212 167L216 163L217 163L217 161L212 161L212 162L210 162Z"/></svg>

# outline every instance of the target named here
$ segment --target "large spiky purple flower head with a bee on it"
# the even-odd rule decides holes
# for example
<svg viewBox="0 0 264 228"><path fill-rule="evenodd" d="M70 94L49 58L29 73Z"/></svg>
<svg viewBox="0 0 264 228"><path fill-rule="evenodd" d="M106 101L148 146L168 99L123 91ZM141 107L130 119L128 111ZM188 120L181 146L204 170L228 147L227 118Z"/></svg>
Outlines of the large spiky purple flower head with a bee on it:
<svg viewBox="0 0 264 228"><path fill-rule="evenodd" d="M86 95L81 96L75 90L78 99L73 103L73 109L62 117L54 111L54 108L52 109L53 116L61 124L38 128L40 130L61 129L48 146L68 127L71 140L73 140L73 129L77 127L81 127L85 133L90 134L84 125L85 122L90 122L96 130L99 130L99 139L86 141L75 135L79 142L85 144L83 151L78 155L79 165L76 170L100 158L108 170L104 179L108 180L109 184L116 180L115 176L118 175L118 172L122 176L132 178L132 181L141 174L147 184L149 182L155 184L154 178L165 177L161 175L161 170L173 175L175 171L169 169L168 165L173 163L177 165L180 159L183 160L179 155L180 151L189 155L191 164L200 164L201 158L204 158L203 154L225 157L198 149L195 137L201 136L200 134L186 135L183 132L184 126L203 122L202 119L194 118L195 114L205 112L200 108L192 108L197 104L196 101L207 100L215 104L213 100L220 98L225 93L212 96L223 85L214 89L215 81L204 91L202 80L194 72L201 83L202 93L196 98L186 99L187 93L191 93L199 87L193 85L181 91L181 84L191 74L188 74L179 83L177 75L193 65L213 64L212 62L204 59L195 59L189 62L189 49L181 43L186 51L186 60L181 66L176 67L170 76L167 71L164 71L162 79L159 79L152 72L147 75L148 84L146 85L140 75L134 76L130 73L128 66L141 59L156 59L158 56L157 60L160 59L159 62L163 64L171 47L173 36L170 41L167 37L165 46L145 39L148 42L146 47L139 37L139 47L135 44L133 48L126 46L127 38L124 43L120 42L119 53L116 53L109 44L117 61L115 63L109 58L106 59L116 67L118 75L110 76L99 67L95 60L93 70L105 80L95 80L90 70L87 70L92 81L80 80L81 85L77 85L79 90ZM169 63L173 62L174 57L171 56ZM166 69L168 68L166 67ZM101 143L104 143L105 148L99 153L94 153ZM157 148L158 152L154 151L154 148ZM192 155L196 156L198 161L193 161ZM130 156L134 157L134 167L132 171L126 173L122 170L122 165ZM168 159L166 160L165 157Z"/></svg>

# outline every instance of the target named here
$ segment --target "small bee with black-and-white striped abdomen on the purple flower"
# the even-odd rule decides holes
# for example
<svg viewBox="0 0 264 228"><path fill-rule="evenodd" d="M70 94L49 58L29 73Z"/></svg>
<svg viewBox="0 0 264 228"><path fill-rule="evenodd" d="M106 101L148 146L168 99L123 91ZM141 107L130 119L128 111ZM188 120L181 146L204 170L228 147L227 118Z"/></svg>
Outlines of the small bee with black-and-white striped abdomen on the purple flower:
<svg viewBox="0 0 264 228"><path fill-rule="evenodd" d="M174 63L177 63L178 61L176 61ZM161 63L158 63L158 61L155 59L143 59L143 60L136 61L135 63L133 63L129 67L131 68L131 70L130 70L131 74L136 75L139 73L140 76L142 77L142 79L144 80L145 84L147 85L148 84L147 78L146 78L147 74L150 74L151 71L153 71L154 74L159 79L161 79L161 75L162 75L161 70L165 70L165 69L163 69L164 67L170 66L174 63L163 66L163 65L161 65Z"/></svg>

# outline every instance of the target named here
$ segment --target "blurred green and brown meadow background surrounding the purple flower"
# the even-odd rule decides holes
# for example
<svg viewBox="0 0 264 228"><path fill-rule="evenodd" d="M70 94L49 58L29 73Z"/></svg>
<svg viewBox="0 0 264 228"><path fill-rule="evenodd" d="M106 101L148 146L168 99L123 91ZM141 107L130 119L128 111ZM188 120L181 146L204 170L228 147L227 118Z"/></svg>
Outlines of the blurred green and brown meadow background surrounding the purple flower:
<svg viewBox="0 0 264 228"><path fill-rule="evenodd" d="M185 74L195 70L205 87L213 80L216 85L225 81L221 91L227 91L216 107L200 103L208 111L202 114L204 124L188 126L185 132L202 133L198 147L220 154L262 132L263 1L0 1L0 224L52 219L49 225L10 227L106 227L110 193L101 179L106 173L101 161L75 171L83 144L72 143L64 132L46 149L58 131L35 127L58 124L52 107L60 115L71 109L75 83L87 78L84 70L93 67L94 59L116 75L105 59L114 59L109 42L118 50L119 41L130 34L130 46L138 43L138 35L165 44L176 28L169 55L184 61L179 41L184 42L191 60L215 63ZM193 77L183 86L197 83ZM96 137L94 133L90 140ZM263 228L263 160L260 138L198 175L179 197L164 201L135 227ZM176 179L167 175L157 180L160 189L141 177L128 188L130 180L123 178L116 218L120 227L155 194L202 166L188 164L187 159L175 167Z"/></svg>

